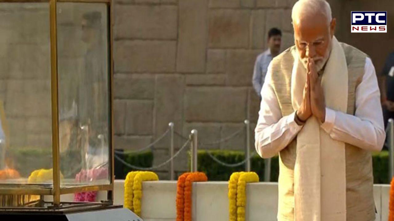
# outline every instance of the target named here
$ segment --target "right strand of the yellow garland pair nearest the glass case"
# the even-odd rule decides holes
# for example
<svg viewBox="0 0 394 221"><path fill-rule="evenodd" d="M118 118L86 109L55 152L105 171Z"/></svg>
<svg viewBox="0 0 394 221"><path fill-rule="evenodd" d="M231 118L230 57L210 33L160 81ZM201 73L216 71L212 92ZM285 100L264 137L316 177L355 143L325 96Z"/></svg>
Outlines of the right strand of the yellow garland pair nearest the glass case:
<svg viewBox="0 0 394 221"><path fill-rule="evenodd" d="M141 171L134 177L133 208L135 214L141 215L142 182L155 180L159 180L159 177L156 173L150 171Z"/></svg>

